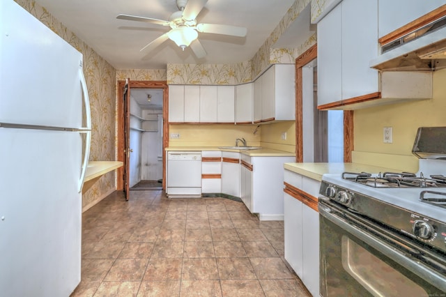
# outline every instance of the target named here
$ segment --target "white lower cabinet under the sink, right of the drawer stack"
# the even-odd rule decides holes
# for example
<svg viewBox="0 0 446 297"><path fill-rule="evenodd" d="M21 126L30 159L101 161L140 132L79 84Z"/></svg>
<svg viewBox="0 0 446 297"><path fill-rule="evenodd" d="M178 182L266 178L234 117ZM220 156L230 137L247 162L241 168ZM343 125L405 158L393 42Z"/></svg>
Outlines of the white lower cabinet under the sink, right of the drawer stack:
<svg viewBox="0 0 446 297"><path fill-rule="evenodd" d="M222 193L240 197L240 153L222 151Z"/></svg>

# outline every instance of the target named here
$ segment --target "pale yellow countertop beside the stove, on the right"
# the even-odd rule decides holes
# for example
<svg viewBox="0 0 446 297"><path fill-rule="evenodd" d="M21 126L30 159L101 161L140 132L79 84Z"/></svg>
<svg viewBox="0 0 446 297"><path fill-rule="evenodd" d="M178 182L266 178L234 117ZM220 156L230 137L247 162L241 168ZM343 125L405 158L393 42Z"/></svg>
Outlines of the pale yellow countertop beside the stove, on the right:
<svg viewBox="0 0 446 297"><path fill-rule="evenodd" d="M285 163L284 168L291 172L313 178L316 181L322 181L323 174L337 174L342 172L401 172L398 169L359 163Z"/></svg>

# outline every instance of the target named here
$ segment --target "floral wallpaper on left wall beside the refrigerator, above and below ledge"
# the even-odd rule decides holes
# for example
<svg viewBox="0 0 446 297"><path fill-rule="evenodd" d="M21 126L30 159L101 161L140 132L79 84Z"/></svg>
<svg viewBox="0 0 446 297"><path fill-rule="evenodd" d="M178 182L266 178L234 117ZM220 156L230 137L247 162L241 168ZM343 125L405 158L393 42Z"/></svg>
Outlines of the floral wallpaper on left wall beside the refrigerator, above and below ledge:
<svg viewBox="0 0 446 297"><path fill-rule="evenodd" d="M116 160L116 70L35 1L15 1L84 55L84 75L91 105L90 160ZM115 189L115 173L105 174L83 195L82 208L93 206Z"/></svg>

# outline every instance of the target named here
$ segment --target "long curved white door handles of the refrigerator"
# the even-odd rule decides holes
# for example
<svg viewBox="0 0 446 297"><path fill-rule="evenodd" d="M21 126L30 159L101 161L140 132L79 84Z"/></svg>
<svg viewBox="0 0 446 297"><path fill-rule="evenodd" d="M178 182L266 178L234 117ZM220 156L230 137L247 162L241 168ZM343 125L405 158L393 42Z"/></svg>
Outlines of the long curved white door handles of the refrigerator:
<svg viewBox="0 0 446 297"><path fill-rule="evenodd" d="M81 80L82 92L84 93L84 105L85 105L85 116L86 116L86 127L79 129L79 133L86 134L85 140L85 151L84 151L84 160L82 161L82 171L81 176L79 177L78 183L78 191L82 192L82 187L84 186L84 178L86 168L89 166L89 158L90 158L90 146L91 146L91 112L90 112L90 99L89 92L86 89L86 81L84 77L84 71L82 70L82 61L79 62L79 77Z"/></svg>

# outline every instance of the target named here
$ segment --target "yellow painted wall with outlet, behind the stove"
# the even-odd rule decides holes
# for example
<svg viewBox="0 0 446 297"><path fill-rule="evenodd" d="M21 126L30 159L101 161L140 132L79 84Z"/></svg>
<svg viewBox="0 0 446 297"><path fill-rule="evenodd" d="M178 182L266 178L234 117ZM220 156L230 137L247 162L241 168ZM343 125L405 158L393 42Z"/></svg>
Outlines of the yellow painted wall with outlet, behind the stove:
<svg viewBox="0 0 446 297"><path fill-rule="evenodd" d="M417 170L412 154L417 128L446 126L446 69L433 73L433 99L355 110L353 162ZM383 127L393 128L393 143L383 143ZM383 164L384 163L384 164Z"/></svg>

